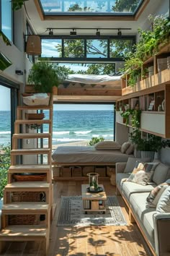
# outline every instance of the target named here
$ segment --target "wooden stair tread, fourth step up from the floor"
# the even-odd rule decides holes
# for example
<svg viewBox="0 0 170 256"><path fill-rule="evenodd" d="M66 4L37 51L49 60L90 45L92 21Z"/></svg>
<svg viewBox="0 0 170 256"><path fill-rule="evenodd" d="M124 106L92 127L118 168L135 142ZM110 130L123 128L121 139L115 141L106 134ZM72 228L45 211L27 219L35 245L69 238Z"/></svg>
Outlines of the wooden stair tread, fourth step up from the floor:
<svg viewBox="0 0 170 256"><path fill-rule="evenodd" d="M15 173L46 173L50 171L50 165L49 164L37 164L37 165L19 165L19 166L10 166L9 167L9 173L15 174Z"/></svg>

